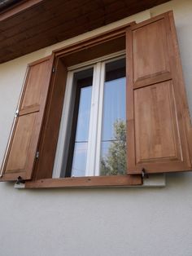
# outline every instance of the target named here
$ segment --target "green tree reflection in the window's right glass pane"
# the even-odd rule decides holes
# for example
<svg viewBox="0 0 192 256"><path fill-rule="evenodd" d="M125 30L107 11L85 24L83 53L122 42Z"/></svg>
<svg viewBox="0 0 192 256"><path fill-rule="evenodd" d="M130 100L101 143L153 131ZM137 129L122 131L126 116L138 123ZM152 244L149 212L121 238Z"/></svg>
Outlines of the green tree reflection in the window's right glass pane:
<svg viewBox="0 0 192 256"><path fill-rule="evenodd" d="M124 120L116 120L113 124L114 139L107 154L102 157L101 175L126 174L126 124Z"/></svg>

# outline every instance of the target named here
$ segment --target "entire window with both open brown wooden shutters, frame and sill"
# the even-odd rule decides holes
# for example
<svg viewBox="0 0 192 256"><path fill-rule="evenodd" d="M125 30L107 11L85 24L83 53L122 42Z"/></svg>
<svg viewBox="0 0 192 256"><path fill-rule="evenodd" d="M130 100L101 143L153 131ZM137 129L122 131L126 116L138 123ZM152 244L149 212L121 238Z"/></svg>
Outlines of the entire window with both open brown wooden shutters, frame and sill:
<svg viewBox="0 0 192 256"><path fill-rule="evenodd" d="M29 64L1 180L141 185L143 174L192 170L191 134L169 11Z"/></svg>

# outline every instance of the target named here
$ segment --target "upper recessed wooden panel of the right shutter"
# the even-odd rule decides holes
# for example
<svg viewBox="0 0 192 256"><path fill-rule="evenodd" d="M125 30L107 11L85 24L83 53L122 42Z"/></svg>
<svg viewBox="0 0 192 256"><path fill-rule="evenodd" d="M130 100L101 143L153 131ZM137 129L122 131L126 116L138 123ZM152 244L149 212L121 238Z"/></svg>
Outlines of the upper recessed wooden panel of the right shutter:
<svg viewBox="0 0 192 256"><path fill-rule="evenodd" d="M149 78L170 72L166 37L164 20L133 30L133 82L142 86L142 80L148 79L150 84Z"/></svg>

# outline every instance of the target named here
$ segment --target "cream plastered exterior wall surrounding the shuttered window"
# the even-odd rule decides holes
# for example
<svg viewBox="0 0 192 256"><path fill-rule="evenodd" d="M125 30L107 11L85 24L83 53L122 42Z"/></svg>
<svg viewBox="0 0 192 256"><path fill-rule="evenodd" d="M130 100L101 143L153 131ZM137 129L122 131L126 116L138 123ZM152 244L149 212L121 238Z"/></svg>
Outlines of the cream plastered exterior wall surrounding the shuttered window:
<svg viewBox="0 0 192 256"><path fill-rule="evenodd" d="M0 162L29 62L131 20L173 10L192 115L192 2L173 0L0 65ZM0 255L191 256L192 173L165 188L18 190L0 183Z"/></svg>

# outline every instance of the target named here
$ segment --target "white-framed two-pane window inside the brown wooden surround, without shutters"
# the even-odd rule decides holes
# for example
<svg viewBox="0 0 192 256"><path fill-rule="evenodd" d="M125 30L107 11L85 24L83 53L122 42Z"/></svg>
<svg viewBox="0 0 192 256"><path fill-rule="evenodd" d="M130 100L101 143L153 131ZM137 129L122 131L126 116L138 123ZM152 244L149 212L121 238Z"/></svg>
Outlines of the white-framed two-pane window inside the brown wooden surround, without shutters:
<svg viewBox="0 0 192 256"><path fill-rule="evenodd" d="M113 55L69 68L54 177L126 174L125 57Z"/></svg>

